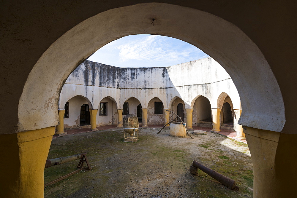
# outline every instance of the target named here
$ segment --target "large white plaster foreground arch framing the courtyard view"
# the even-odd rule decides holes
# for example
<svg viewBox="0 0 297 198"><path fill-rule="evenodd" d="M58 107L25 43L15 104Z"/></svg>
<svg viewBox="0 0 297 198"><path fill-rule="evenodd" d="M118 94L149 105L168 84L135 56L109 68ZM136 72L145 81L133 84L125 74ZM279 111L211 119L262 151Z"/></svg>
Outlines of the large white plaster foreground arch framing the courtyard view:
<svg viewBox="0 0 297 198"><path fill-rule="evenodd" d="M57 125L60 90L74 68L110 41L141 33L171 36L202 49L225 68L243 96L239 124L282 130L285 108L279 85L262 52L243 31L198 9L143 3L90 17L51 44L23 88L16 132Z"/></svg>

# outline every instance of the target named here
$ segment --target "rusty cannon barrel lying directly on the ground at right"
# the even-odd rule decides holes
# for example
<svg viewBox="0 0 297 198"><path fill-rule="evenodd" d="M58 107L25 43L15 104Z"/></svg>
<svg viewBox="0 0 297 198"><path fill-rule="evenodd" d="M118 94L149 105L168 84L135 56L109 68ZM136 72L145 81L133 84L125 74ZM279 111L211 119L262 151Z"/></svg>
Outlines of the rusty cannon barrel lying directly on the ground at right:
<svg viewBox="0 0 297 198"><path fill-rule="evenodd" d="M239 187L236 186L236 184L235 184L235 180L230 179L230 178L226 177L225 175L222 175L221 173L218 173L217 171L212 170L212 169L200 164L196 160L194 160L193 164L190 166L190 173L192 173L193 175L197 175L198 168L200 170L202 170L204 173L208 174L212 178L214 178L217 181L219 181L220 183L222 183L224 186L227 186L229 189L231 189L231 190L238 189L239 190Z"/></svg>

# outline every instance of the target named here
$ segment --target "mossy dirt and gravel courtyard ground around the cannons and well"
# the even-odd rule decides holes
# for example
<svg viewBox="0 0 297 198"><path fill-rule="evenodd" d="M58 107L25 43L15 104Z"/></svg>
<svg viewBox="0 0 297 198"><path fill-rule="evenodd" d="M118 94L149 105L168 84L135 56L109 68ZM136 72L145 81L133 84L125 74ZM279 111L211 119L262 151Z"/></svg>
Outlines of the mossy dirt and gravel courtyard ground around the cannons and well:
<svg viewBox="0 0 297 198"><path fill-rule="evenodd" d="M247 144L216 133L169 136L169 129L140 128L140 141L123 142L121 129L62 136L48 159L87 152L92 170L45 188L45 197L252 197L253 168ZM193 160L236 181L230 190L206 173L189 173ZM73 170L79 160L45 169L45 183Z"/></svg>

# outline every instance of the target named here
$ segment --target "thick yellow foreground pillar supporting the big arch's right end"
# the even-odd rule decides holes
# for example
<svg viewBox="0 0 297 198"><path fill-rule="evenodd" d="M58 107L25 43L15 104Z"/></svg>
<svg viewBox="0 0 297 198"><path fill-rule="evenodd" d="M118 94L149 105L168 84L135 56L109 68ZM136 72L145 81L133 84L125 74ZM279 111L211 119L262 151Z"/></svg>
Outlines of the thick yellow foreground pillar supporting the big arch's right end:
<svg viewBox="0 0 297 198"><path fill-rule="evenodd" d="M252 156L254 197L297 197L297 134L243 129Z"/></svg>

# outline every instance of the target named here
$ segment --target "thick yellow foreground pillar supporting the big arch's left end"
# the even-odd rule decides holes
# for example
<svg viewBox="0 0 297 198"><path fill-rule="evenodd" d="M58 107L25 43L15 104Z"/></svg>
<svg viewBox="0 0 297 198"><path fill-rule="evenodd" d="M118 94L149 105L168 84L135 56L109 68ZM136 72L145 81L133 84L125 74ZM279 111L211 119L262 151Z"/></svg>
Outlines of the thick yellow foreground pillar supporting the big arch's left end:
<svg viewBox="0 0 297 198"><path fill-rule="evenodd" d="M44 166L55 127L0 135L0 197L43 197Z"/></svg>

